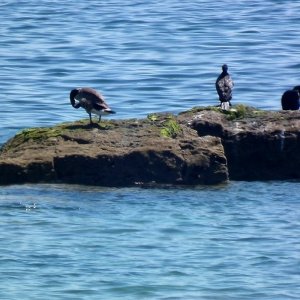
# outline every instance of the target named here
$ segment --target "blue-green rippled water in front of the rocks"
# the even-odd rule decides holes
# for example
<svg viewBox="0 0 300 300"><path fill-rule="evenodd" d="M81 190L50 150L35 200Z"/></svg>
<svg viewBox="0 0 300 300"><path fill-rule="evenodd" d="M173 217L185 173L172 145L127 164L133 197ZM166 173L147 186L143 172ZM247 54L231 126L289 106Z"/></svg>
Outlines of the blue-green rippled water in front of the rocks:
<svg viewBox="0 0 300 300"><path fill-rule="evenodd" d="M298 190L2 188L0 298L299 299Z"/></svg>

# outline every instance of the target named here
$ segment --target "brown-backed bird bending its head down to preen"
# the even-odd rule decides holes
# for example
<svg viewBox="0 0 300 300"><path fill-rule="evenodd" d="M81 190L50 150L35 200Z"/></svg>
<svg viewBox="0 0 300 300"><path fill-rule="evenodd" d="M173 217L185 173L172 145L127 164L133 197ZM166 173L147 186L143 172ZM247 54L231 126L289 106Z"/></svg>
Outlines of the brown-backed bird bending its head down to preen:
<svg viewBox="0 0 300 300"><path fill-rule="evenodd" d="M76 103L77 100L78 102ZM91 114L99 116L99 122L102 115L115 114L106 104L104 97L96 90L88 87L74 89L70 93L70 102L74 108L82 107L86 110L92 122Z"/></svg>

